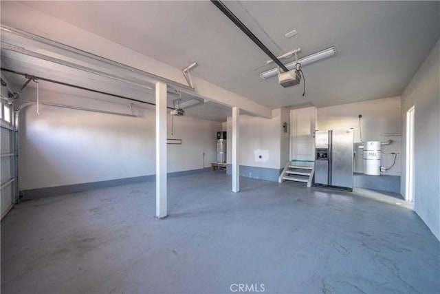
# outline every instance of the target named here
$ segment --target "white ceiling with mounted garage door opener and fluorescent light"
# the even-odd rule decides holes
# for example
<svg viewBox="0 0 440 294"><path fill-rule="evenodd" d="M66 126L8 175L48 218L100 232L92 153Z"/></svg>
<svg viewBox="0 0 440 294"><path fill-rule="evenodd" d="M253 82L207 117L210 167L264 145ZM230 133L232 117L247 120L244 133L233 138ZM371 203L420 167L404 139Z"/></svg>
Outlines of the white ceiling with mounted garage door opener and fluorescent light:
<svg viewBox="0 0 440 294"><path fill-rule="evenodd" d="M336 46L303 67L303 97L303 85L259 77L273 63L210 1L25 3L173 67L197 61L192 74L271 108L398 96L440 37L439 1L225 1L275 55Z"/></svg>

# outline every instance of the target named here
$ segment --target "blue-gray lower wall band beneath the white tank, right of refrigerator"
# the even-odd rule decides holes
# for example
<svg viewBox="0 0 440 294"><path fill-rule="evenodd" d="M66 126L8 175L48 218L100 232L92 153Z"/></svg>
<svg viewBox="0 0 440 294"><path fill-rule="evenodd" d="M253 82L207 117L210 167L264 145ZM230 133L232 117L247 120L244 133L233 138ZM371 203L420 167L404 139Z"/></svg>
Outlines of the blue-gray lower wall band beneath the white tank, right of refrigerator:
<svg viewBox="0 0 440 294"><path fill-rule="evenodd" d="M400 193L400 176L353 174L353 187Z"/></svg>

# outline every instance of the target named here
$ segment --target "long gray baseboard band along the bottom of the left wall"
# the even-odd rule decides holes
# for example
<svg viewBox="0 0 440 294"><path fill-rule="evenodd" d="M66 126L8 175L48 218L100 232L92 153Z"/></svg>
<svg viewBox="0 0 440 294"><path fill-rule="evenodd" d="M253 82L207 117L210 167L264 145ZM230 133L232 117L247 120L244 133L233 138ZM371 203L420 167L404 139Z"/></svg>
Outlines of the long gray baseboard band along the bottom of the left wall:
<svg viewBox="0 0 440 294"><path fill-rule="evenodd" d="M168 178L173 178L176 176L187 176L190 174L198 174L206 171L211 171L211 168L206 167L203 169L192 169L189 171L175 171L173 173L168 173ZM138 176L133 178L120 178L115 180L102 180L99 182L85 182L80 184L65 185L58 187L28 189L21 191L21 194L23 195L23 200L30 200L36 198L45 198L45 197L59 196L65 194L80 193L94 189L102 189L102 188L109 188L120 185L133 184L136 182L146 182L155 179L156 179L155 175L150 175L150 176Z"/></svg>

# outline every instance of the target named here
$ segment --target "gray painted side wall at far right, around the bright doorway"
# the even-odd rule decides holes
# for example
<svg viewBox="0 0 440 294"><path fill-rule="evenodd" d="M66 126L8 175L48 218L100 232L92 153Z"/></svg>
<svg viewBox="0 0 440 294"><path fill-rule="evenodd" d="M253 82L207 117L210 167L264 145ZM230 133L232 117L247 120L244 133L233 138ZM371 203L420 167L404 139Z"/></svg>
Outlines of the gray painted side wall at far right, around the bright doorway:
<svg viewBox="0 0 440 294"><path fill-rule="evenodd" d="M405 195L406 112L415 106L415 195L417 214L440 240L440 40L401 95L401 193Z"/></svg>

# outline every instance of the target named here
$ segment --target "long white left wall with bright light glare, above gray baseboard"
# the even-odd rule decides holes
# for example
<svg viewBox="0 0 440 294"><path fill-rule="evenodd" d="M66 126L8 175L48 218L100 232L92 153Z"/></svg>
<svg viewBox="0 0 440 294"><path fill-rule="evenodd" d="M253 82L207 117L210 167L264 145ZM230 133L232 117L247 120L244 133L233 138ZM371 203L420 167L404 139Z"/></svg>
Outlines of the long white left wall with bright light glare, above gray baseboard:
<svg viewBox="0 0 440 294"><path fill-rule="evenodd" d="M58 103L67 103L69 98L72 96L41 94L43 101L58 99ZM126 105L76 99L87 101L86 107L93 105L96 109L129 113ZM140 116L133 118L45 105L40 106L40 114L36 114L35 105L23 109L20 114L20 189L155 174L155 112L135 107L135 113ZM167 145L168 172L210 167L221 123L175 116L174 136L171 136L170 127L168 115L168 138L179 138L182 144Z"/></svg>

